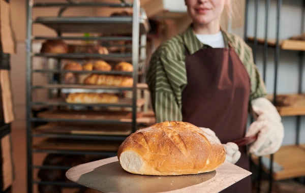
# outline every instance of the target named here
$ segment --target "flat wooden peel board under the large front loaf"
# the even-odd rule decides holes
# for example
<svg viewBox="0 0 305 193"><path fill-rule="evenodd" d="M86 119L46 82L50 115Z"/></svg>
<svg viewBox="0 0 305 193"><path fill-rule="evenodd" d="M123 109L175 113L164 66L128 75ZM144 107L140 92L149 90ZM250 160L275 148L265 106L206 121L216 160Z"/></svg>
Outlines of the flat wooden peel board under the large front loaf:
<svg viewBox="0 0 305 193"><path fill-rule="evenodd" d="M216 171L180 176L147 176L124 171L117 157L71 168L68 179L102 192L219 192L251 172L225 162Z"/></svg>

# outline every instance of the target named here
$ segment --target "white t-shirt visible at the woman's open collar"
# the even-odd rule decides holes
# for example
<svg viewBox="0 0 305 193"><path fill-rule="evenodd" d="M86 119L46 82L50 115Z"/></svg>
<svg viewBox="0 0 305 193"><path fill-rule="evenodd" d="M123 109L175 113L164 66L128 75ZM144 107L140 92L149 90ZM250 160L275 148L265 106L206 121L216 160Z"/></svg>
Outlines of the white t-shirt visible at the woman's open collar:
<svg viewBox="0 0 305 193"><path fill-rule="evenodd" d="M196 37L203 44L209 45L212 48L224 48L225 41L221 31L217 34L202 35L196 34Z"/></svg>

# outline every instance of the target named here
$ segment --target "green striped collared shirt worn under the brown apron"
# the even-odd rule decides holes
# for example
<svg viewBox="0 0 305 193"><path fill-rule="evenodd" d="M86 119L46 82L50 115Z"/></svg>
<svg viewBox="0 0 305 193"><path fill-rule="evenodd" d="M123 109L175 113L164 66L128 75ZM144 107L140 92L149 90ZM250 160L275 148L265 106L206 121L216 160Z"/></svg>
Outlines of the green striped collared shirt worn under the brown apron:
<svg viewBox="0 0 305 193"><path fill-rule="evenodd" d="M252 49L238 36L222 31L225 45L230 43L245 66L251 81L249 102L264 97L266 89L260 73L254 64ZM210 47L201 43L192 27L163 43L150 60L147 84L157 122L182 120L181 93L188 84L186 73L186 49L194 54ZM204 62L204 61L203 61Z"/></svg>

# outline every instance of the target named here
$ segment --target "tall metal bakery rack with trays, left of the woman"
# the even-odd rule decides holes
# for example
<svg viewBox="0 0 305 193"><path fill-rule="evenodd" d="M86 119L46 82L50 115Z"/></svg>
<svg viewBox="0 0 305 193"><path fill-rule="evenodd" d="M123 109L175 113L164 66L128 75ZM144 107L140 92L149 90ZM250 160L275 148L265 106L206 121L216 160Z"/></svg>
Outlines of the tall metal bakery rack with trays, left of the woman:
<svg viewBox="0 0 305 193"><path fill-rule="evenodd" d="M139 123L147 123L150 119L137 116L137 109L144 104L142 99L137 99L137 90L146 89L145 82L145 58L146 58L146 34L149 23L145 12L140 9L140 1L133 3L81 3L79 1L66 0L66 3L36 3L26 1L27 6L27 35L26 35L26 120L27 120L27 192L34 192L34 184L46 184L60 187L79 187L79 185L65 181L42 181L35 176L34 170L67 170L67 166L35 165L36 153L55 153L64 155L90 154L90 155L116 155L118 145L128 135L135 132ZM57 17L33 18L35 9L60 8ZM132 16L111 17L63 17L62 14L73 7L105 7L105 8L132 8ZM33 36L33 25L44 25L53 29L55 37ZM64 36L65 33L105 33L111 34L103 37ZM119 34L121 36L112 36ZM132 53L66 53L49 54L34 53L33 41L39 40L77 40L77 41L132 41L130 48ZM57 69L35 69L33 58L44 57L57 60ZM63 84L61 75L65 73L88 74L90 71L64 71L63 59L105 59L107 61L129 61L134 67L133 72L98 71L95 74L127 75L133 77L133 85L128 87L113 87L85 84ZM33 75L44 73L57 78L57 83L33 84ZM60 98L63 89L90 89L111 90L113 92L130 90L131 99L120 99L116 104L69 104L64 101L48 100L34 101L35 90L56 90L56 98ZM33 108L43 106L52 108L44 112L34 112ZM125 107L132 109L129 112L92 111L63 111L61 107ZM114 116L115 115L115 116ZM99 130L97 125L104 125L108 132ZM109 132L111 131L111 132ZM38 143L36 143L38 142Z"/></svg>

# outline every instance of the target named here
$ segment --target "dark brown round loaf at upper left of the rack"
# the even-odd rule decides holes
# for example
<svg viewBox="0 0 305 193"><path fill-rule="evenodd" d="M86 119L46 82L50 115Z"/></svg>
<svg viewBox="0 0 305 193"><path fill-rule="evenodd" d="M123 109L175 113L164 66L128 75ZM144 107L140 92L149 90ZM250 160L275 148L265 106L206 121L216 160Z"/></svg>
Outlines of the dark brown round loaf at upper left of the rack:
<svg viewBox="0 0 305 193"><path fill-rule="evenodd" d="M47 40L42 44L41 53L58 53L65 54L68 53L68 45L61 40Z"/></svg>

